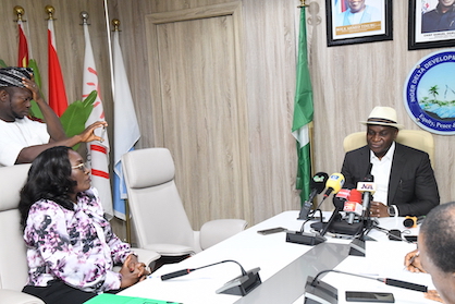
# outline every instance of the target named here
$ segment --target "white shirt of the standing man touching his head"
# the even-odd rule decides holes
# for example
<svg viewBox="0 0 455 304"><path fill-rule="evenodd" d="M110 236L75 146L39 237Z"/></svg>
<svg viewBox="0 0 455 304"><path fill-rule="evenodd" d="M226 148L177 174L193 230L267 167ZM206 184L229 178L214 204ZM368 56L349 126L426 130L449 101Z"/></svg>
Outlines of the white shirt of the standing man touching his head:
<svg viewBox="0 0 455 304"><path fill-rule="evenodd" d="M49 143L46 123L27 117L5 122L0 119L0 167L13 166L23 148Z"/></svg>

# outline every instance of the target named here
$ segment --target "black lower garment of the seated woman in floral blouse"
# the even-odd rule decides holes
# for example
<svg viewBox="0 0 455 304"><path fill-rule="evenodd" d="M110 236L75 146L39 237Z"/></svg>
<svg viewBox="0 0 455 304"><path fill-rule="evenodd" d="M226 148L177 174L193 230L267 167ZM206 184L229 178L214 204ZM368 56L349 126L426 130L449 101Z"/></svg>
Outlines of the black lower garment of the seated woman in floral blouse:
<svg viewBox="0 0 455 304"><path fill-rule="evenodd" d="M95 292L85 292L62 281L51 281L47 287L26 285L22 291L41 299L46 304L82 304L97 295ZM119 291L113 290L109 293Z"/></svg>

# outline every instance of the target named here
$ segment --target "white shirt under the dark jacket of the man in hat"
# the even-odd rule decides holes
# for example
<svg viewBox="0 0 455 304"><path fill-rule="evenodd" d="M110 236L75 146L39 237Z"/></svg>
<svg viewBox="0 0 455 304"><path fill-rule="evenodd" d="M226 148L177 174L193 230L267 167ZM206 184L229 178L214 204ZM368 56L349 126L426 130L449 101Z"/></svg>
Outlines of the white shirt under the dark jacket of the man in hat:
<svg viewBox="0 0 455 304"><path fill-rule="evenodd" d="M390 171L392 169L393 155L395 153L395 142L392 143L388 153L379 159L373 151L370 150L370 161L373 165L371 174L374 177L376 192L373 200L388 205L388 192Z"/></svg>

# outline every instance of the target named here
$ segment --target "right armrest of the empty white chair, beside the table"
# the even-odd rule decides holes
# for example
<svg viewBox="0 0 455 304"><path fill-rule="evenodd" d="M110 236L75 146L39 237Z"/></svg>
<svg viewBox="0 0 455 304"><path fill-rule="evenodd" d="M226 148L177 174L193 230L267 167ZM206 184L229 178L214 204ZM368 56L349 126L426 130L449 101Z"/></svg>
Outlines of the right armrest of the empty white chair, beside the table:
<svg viewBox="0 0 455 304"><path fill-rule="evenodd" d="M247 222L241 219L211 220L200 228L200 247L207 250L245 230Z"/></svg>

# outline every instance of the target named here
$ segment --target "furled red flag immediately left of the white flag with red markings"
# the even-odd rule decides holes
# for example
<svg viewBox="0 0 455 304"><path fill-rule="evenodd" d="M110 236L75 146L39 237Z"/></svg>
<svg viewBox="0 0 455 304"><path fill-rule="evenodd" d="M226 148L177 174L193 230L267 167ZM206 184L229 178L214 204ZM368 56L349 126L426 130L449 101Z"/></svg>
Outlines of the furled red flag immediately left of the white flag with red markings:
<svg viewBox="0 0 455 304"><path fill-rule="evenodd" d="M53 33L53 20L50 19L48 21L49 106L61 117L67 108L67 99Z"/></svg>

